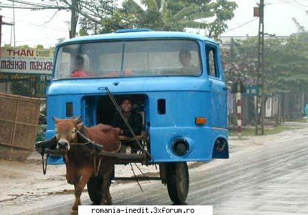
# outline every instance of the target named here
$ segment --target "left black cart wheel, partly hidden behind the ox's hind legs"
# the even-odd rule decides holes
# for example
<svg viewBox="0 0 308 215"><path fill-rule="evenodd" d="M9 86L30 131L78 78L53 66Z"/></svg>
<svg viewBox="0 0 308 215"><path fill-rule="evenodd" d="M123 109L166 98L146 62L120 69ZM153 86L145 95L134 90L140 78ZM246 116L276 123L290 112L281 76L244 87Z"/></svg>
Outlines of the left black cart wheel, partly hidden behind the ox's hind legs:
<svg viewBox="0 0 308 215"><path fill-rule="evenodd" d="M93 205L99 205L102 201L102 190L103 178L102 177L91 177L88 180L88 196L90 197Z"/></svg>

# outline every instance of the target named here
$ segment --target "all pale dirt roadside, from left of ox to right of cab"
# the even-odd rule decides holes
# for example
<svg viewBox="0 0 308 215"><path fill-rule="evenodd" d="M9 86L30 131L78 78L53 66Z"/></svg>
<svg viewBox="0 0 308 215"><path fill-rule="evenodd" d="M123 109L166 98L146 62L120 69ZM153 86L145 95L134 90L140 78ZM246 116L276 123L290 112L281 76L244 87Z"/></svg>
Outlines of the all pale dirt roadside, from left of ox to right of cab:
<svg viewBox="0 0 308 215"><path fill-rule="evenodd" d="M304 124L306 127L307 124ZM230 137L230 153L234 153L243 148L253 147L254 145L264 144L265 142L277 142L294 138L296 134L307 134L308 128L298 127L298 129L285 131L281 134L270 136L251 136L245 137L243 140L237 140L236 137ZM190 163L190 166L196 164ZM134 171L140 175L140 170L134 166ZM155 166L141 166L139 168L143 173L158 173ZM157 166L158 168L158 166ZM63 194L71 201L73 200L73 186L67 184L65 179L64 165L49 165L47 166L47 174L43 175L42 163L40 155L34 153L25 162L14 162L0 160L0 214L1 211L5 214L19 214L23 209L29 209L32 204L36 206L46 202L47 199L60 199L59 194ZM116 177L132 176L130 165L116 166ZM134 186L137 186L136 182ZM113 184L117 187L119 184ZM83 197L88 198L87 194ZM42 201L38 201L42 199ZM43 201L44 200L44 201ZM19 207L18 207L19 206Z"/></svg>

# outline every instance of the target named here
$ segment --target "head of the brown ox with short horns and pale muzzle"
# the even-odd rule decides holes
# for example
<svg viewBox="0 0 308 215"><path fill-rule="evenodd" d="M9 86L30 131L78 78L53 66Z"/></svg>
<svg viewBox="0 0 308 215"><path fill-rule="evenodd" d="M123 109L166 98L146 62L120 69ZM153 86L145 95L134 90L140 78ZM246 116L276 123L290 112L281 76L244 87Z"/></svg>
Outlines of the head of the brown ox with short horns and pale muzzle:
<svg viewBox="0 0 308 215"><path fill-rule="evenodd" d="M56 141L57 149L62 153L67 153L70 149L70 143L77 142L77 130L82 127L81 117L53 119L56 123Z"/></svg>

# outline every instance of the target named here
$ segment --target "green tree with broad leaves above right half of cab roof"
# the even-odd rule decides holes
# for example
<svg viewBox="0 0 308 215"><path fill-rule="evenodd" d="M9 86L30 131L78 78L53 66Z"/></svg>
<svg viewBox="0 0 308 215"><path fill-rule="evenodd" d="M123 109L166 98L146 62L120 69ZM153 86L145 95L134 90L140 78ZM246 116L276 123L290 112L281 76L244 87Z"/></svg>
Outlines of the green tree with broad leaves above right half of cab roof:
<svg viewBox="0 0 308 215"><path fill-rule="evenodd" d="M224 32L226 21L233 18L236 7L235 2L224 0L143 0L141 5L133 0L123 2L123 12L131 14L135 27L176 31L184 31L187 27L206 29L208 36L213 38ZM212 22L206 19L213 17Z"/></svg>

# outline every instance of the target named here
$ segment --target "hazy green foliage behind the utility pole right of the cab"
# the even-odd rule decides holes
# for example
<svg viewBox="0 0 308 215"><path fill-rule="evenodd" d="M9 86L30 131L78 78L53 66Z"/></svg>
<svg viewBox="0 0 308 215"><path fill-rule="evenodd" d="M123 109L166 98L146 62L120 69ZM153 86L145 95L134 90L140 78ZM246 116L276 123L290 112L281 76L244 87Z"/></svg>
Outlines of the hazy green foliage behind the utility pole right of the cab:
<svg viewBox="0 0 308 215"><path fill-rule="evenodd" d="M230 58L226 60L228 81L235 81L235 78L241 77L246 84L257 84L257 45L257 38L248 38L233 44L235 62L231 62ZM294 34L289 38L265 39L265 92L308 92L307 68L308 32Z"/></svg>

